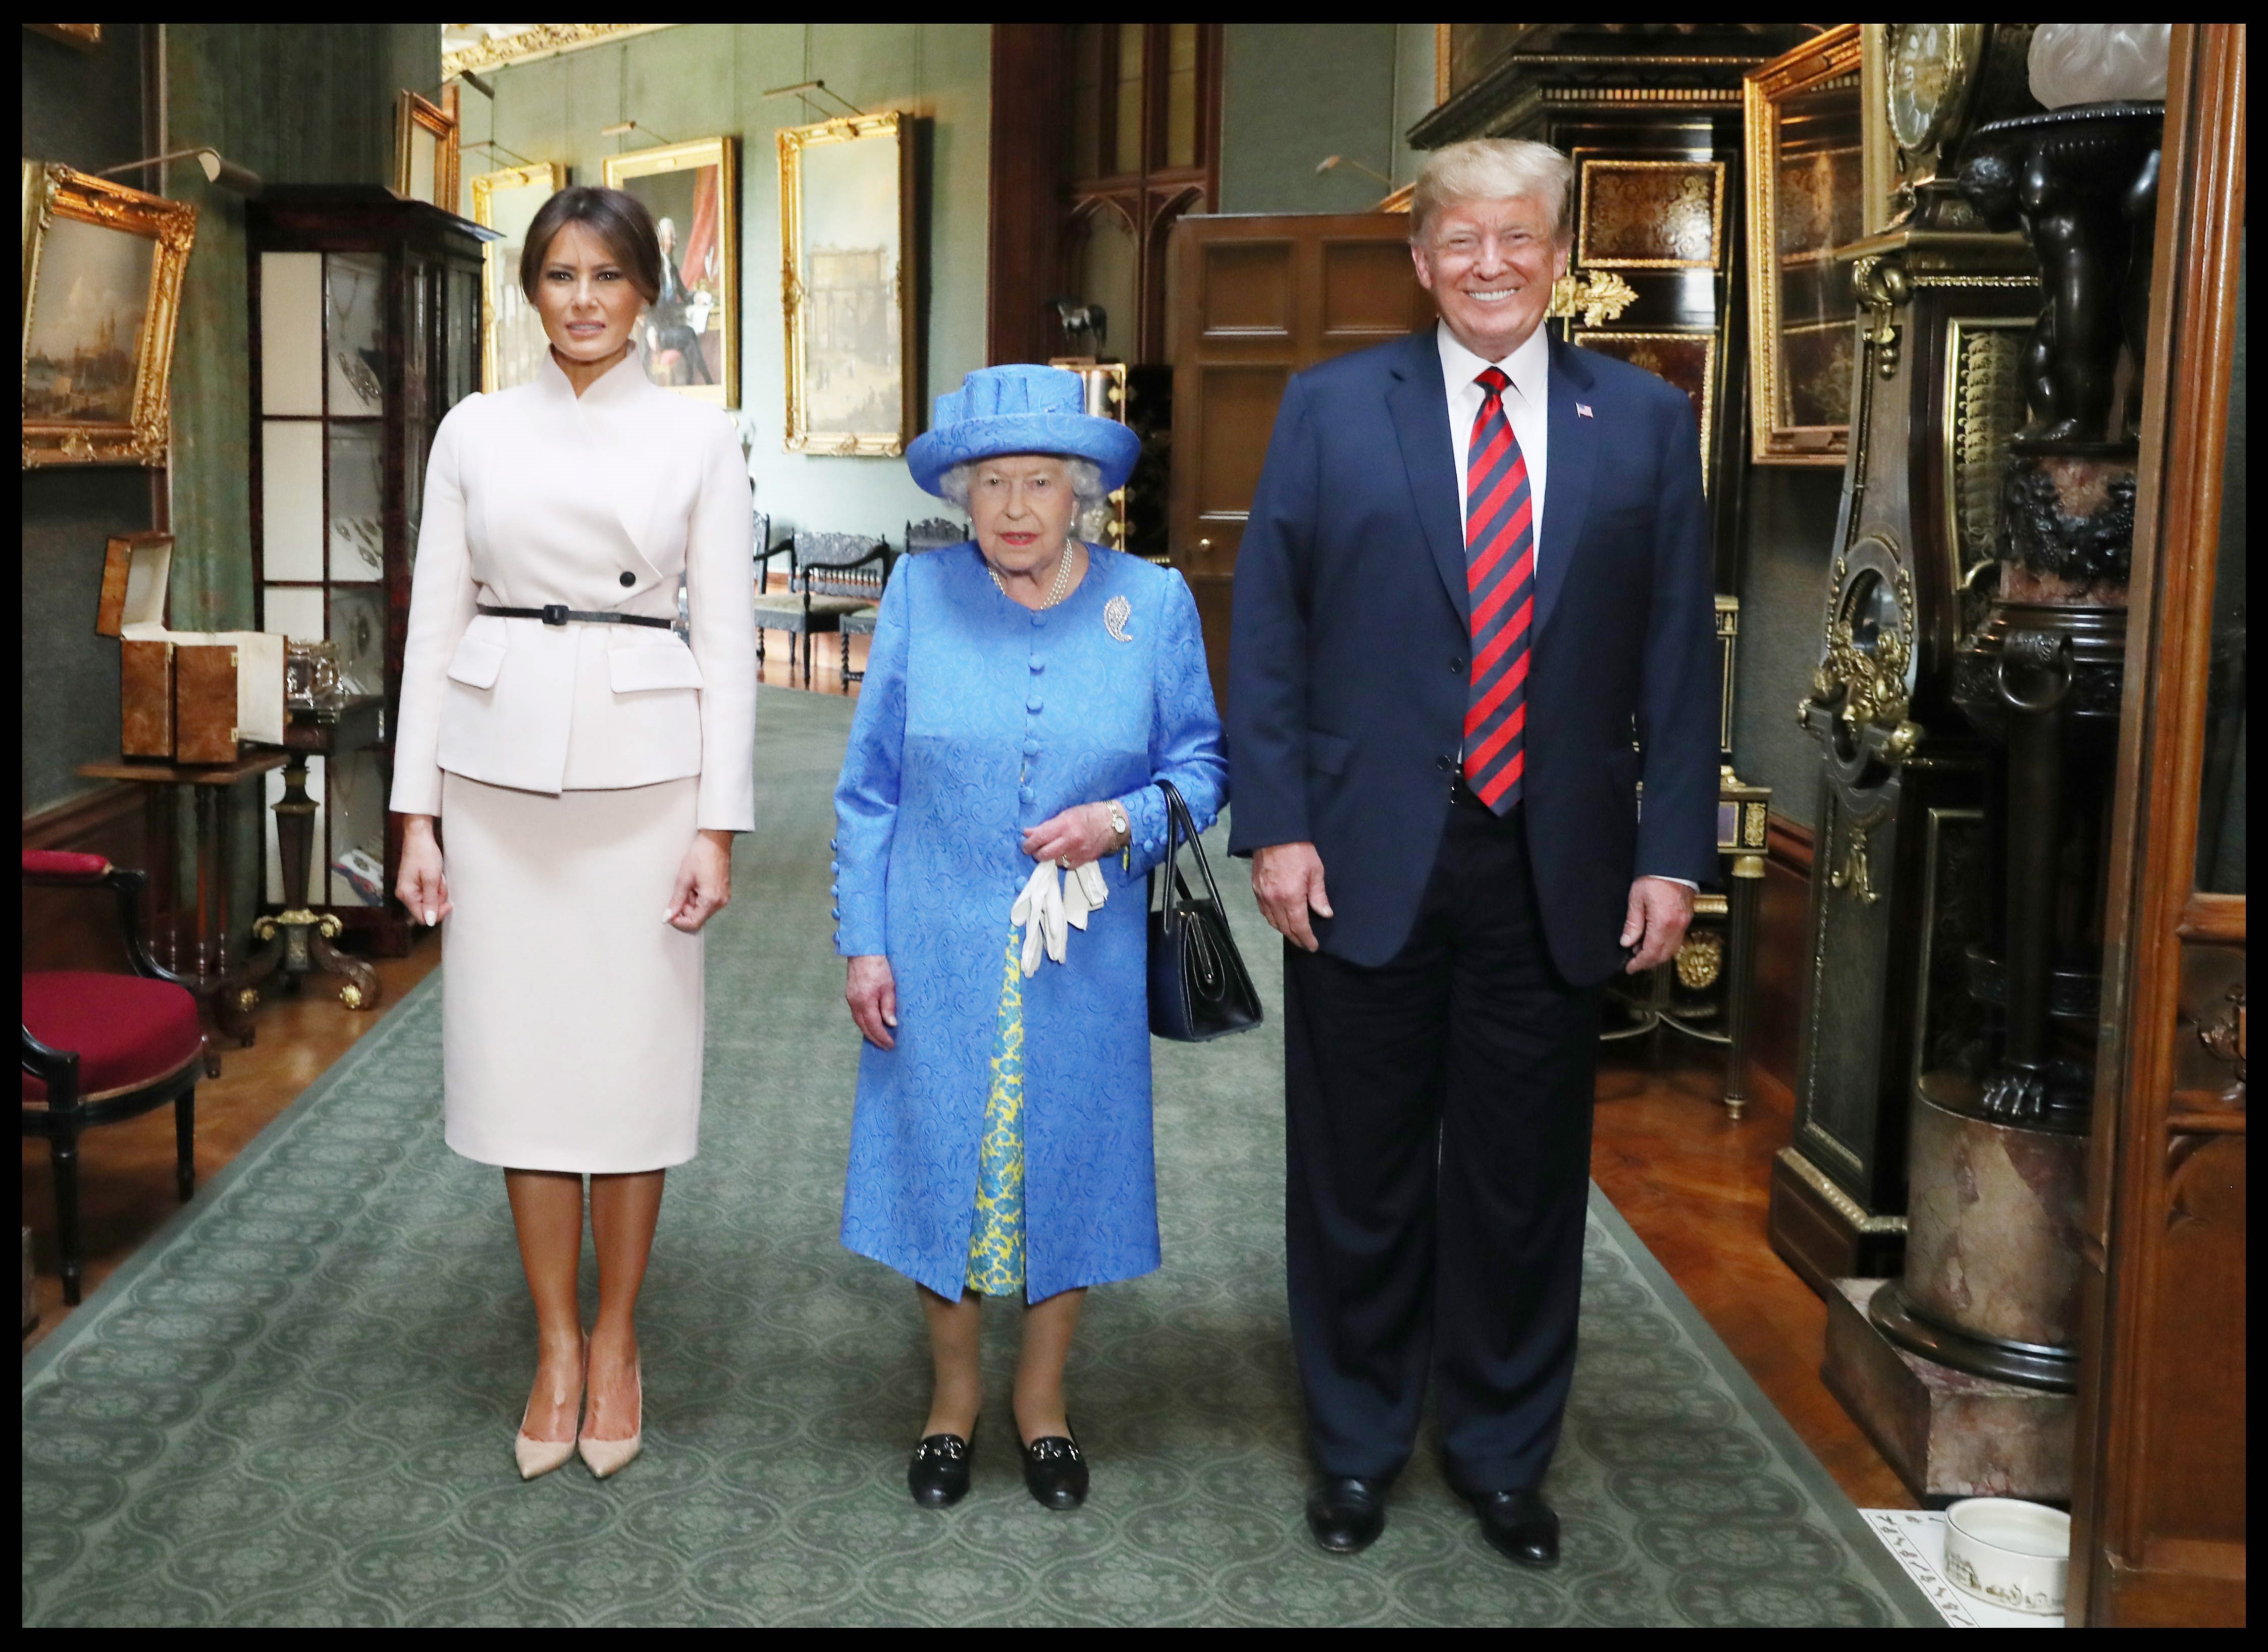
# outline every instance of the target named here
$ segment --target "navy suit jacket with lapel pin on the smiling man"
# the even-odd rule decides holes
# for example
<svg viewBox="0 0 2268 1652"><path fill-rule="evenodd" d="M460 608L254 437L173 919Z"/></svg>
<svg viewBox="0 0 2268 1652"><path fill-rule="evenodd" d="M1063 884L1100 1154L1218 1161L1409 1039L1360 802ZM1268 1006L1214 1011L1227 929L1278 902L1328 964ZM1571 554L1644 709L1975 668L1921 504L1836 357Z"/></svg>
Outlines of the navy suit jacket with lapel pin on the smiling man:
<svg viewBox="0 0 2268 1652"><path fill-rule="evenodd" d="M1715 569L1685 392L1554 342L1547 399L1522 795L1551 961L1588 986L1633 877L1717 870ZM1229 850L1313 843L1315 936L1372 968L1408 940L1463 746L1452 440L1431 329L1297 374L1236 553Z"/></svg>

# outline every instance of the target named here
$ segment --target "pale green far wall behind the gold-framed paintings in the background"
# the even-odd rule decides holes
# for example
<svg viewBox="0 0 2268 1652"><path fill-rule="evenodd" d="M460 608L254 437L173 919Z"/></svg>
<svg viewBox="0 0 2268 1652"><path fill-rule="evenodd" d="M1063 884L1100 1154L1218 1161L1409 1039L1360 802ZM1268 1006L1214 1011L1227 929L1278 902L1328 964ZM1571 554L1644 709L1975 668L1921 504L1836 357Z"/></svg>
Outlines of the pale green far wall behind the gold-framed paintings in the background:
<svg viewBox="0 0 2268 1652"><path fill-rule="evenodd" d="M898 539L939 501L914 487L905 460L780 451L787 344L780 322L780 161L773 131L835 113L826 100L764 97L769 86L823 79L866 111L928 122L925 383L930 401L984 365L984 261L991 170L991 27L984 23L696 23L635 34L483 75L494 104L463 93L465 177L528 161L565 161L576 184L601 184L608 154L730 134L739 138L742 333L737 412L758 510L776 533L875 533ZM599 129L635 120L637 134ZM494 140L499 150L469 145ZM469 184L467 184L469 211Z"/></svg>

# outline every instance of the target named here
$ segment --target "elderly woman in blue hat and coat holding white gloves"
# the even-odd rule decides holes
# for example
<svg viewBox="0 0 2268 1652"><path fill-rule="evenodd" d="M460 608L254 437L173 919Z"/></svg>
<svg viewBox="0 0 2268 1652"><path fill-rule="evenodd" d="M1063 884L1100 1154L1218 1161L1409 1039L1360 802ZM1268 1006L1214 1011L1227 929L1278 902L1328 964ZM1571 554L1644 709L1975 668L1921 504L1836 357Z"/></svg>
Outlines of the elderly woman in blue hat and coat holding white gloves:
<svg viewBox="0 0 2268 1652"><path fill-rule="evenodd" d="M1086 1498L1064 1414L1080 1305L1159 1264L1157 782L1202 825L1227 766L1188 587L1075 533L1136 446L1057 367L984 367L937 399L907 465L975 539L898 564L835 789L835 947L866 1038L841 1240L919 1287L925 1507L968 1489L978 1317L1016 1294L1025 1484L1050 1509Z"/></svg>

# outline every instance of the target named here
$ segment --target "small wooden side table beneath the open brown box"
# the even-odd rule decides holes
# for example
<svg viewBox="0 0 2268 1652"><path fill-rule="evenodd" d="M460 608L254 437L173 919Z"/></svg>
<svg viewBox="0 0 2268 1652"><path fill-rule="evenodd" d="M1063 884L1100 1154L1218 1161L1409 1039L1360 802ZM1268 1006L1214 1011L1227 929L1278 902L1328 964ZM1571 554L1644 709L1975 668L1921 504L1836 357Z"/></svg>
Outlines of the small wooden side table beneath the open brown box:
<svg viewBox="0 0 2268 1652"><path fill-rule="evenodd" d="M152 870L152 909L163 916L166 968L184 977L197 1004L211 1015L213 1029L238 1047L252 1042L252 1011L261 995L252 981L229 968L229 884L231 845L236 836L236 786L254 775L284 768L288 752L254 746L234 764L163 764L120 757L107 764L79 764L86 780L132 780L147 786L147 843ZM170 786L188 786L191 838L197 866L195 936L181 945L181 911L175 900L175 820L168 804ZM152 925L156 929L156 925ZM159 940L159 934L152 934ZM206 1045L204 1070L220 1076L220 1054Z"/></svg>

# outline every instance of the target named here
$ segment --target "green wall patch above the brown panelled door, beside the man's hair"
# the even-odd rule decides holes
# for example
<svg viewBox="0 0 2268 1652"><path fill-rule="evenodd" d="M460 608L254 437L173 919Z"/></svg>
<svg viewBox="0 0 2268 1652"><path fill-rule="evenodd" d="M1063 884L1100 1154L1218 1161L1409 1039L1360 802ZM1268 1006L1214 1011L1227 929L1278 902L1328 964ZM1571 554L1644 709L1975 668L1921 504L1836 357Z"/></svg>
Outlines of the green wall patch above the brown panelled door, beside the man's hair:
<svg viewBox="0 0 2268 1652"><path fill-rule="evenodd" d="M1363 213L1424 154L1402 134L1433 107L1431 23L1229 23L1222 29L1220 211Z"/></svg>

